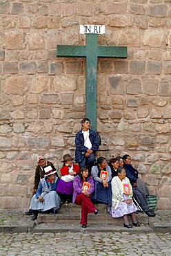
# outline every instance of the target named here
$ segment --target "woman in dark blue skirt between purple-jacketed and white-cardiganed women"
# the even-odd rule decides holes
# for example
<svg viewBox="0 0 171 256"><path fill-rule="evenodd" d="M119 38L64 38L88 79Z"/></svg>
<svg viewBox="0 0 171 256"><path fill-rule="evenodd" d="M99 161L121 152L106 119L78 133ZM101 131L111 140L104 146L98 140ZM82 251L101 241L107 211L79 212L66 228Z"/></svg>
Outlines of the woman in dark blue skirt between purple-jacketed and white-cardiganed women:
<svg viewBox="0 0 171 256"><path fill-rule="evenodd" d="M94 179L93 202L107 203L111 206L112 190L110 181L112 179L112 172L104 157L97 158L97 165L92 167L91 174Z"/></svg>

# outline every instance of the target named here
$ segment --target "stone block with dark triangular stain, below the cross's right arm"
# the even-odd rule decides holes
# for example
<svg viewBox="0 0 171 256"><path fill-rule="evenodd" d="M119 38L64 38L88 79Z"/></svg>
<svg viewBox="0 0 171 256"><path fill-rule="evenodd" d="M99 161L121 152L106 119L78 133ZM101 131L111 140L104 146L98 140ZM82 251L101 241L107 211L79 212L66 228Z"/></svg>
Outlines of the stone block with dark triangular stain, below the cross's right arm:
<svg viewBox="0 0 171 256"><path fill-rule="evenodd" d="M110 84L110 93L125 95L124 81L121 76L112 76L108 78Z"/></svg>

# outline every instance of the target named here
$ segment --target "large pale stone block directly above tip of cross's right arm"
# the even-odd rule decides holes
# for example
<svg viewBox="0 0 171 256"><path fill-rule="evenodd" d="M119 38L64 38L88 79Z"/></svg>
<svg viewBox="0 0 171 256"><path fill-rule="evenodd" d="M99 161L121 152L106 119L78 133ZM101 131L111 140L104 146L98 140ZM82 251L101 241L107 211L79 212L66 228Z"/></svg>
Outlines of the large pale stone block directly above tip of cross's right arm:
<svg viewBox="0 0 171 256"><path fill-rule="evenodd" d="M126 30L116 30L114 32L117 45L120 46L140 46L141 36L139 28L129 28Z"/></svg>

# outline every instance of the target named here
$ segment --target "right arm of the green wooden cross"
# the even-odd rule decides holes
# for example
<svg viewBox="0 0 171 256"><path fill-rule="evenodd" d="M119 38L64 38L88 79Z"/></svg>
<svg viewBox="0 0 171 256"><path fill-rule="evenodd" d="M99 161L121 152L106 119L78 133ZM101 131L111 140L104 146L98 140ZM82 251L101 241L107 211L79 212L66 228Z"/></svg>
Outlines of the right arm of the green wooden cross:
<svg viewBox="0 0 171 256"><path fill-rule="evenodd" d="M98 46L98 57L127 57L127 46Z"/></svg>

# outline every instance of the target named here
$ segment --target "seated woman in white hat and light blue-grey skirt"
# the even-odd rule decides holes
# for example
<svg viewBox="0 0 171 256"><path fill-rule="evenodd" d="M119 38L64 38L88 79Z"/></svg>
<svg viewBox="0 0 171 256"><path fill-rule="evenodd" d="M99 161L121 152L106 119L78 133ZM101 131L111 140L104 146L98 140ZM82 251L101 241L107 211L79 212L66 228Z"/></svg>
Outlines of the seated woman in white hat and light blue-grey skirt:
<svg viewBox="0 0 171 256"><path fill-rule="evenodd" d="M56 192L59 181L56 171L52 170L50 165L45 167L44 171L46 173L45 178L41 179L37 192L32 196L30 203L30 209L34 212L32 221L37 219L38 211L52 210L55 213L60 207L60 198Z"/></svg>

